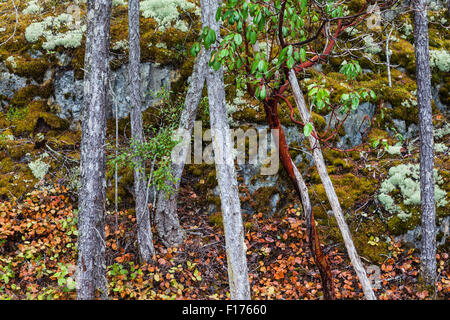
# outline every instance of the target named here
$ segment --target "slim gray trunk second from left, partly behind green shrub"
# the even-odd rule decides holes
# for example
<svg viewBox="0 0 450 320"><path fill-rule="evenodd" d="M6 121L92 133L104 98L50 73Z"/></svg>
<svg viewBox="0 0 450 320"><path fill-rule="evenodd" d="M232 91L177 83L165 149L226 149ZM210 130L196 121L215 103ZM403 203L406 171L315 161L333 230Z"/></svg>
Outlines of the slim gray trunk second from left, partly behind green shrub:
<svg viewBox="0 0 450 320"><path fill-rule="evenodd" d="M141 111L141 46L139 35L139 0L128 1L129 80L131 101L131 136L136 144L144 142ZM135 146L136 147L136 146ZM155 249L146 196L145 164L134 158L134 200L136 205L137 238L141 261L152 261Z"/></svg>

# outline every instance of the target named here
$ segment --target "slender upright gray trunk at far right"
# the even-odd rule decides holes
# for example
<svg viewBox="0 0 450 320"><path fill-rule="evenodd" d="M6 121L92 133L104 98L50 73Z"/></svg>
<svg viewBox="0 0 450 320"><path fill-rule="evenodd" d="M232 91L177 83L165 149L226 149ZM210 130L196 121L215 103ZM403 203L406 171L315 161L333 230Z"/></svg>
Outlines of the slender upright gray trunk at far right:
<svg viewBox="0 0 450 320"><path fill-rule="evenodd" d="M427 1L415 0L414 4L414 41L420 137L420 200L422 210L421 273L424 282L432 285L436 280L436 208L434 200L434 141Z"/></svg>

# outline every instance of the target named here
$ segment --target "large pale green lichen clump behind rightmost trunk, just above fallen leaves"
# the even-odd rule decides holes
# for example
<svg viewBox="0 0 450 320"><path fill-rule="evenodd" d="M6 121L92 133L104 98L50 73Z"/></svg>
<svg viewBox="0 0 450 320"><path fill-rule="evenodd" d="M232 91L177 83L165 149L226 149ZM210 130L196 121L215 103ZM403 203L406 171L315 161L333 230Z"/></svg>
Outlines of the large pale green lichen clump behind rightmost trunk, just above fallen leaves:
<svg viewBox="0 0 450 320"><path fill-rule="evenodd" d="M447 193L439 185L444 183L443 178L434 170L435 201L438 207L447 205ZM396 203L393 193L399 191L399 197L404 206L420 205L420 167L418 164L401 164L389 169L389 178L381 184L377 195L378 201L385 210L405 221L411 213L403 210Z"/></svg>

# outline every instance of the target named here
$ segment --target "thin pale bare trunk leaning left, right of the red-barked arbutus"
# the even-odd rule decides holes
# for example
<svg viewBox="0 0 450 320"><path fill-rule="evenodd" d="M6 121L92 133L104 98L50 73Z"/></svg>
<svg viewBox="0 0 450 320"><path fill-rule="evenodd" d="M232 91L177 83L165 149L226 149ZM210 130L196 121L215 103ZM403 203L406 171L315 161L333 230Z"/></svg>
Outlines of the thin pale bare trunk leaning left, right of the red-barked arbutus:
<svg viewBox="0 0 450 320"><path fill-rule="evenodd" d="M295 75L295 72L292 69L289 71L289 82L291 84L294 99L303 122L312 123L311 115L308 109L306 108L303 93L301 92L300 86L298 85L298 80ZM315 129L313 129L313 132L315 132ZM350 256L350 260L353 264L353 268L355 269L359 281L361 282L364 295L368 300L376 300L375 294L373 293L372 284L370 283L370 280L367 278L366 270L364 269L361 259L358 253L356 252L355 245L353 244L353 239L350 234L348 225L345 222L344 215L342 214L342 209L339 204L339 199L334 190L333 183L331 182L331 179L328 176L327 167L323 159L319 141L316 140L313 136L309 137L309 141L314 157L314 162L317 167L317 171L319 173L320 179L322 180L322 184L327 194L328 201L330 202L331 208L333 210L333 214L338 223L339 229L341 230L342 237L344 238L344 243L347 248L348 255Z"/></svg>

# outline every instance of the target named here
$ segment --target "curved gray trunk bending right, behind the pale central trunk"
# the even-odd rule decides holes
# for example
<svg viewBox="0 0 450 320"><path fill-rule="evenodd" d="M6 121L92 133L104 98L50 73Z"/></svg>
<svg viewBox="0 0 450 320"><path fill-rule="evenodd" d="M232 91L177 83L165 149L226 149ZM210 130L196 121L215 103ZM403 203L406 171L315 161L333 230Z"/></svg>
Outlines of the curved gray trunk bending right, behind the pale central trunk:
<svg viewBox="0 0 450 320"><path fill-rule="evenodd" d="M200 56L194 64L194 70L190 77L189 88L184 101L184 108L181 113L179 132L183 140L174 150L172 158L172 176L175 182L169 182L172 192L167 194L160 191L158 205L156 208L155 220L158 234L164 245L168 247L178 246L183 242L184 232L180 226L177 213L177 197L180 189L180 180L186 163L186 155L190 150L192 128L194 127L197 108L202 97L205 85L206 71L208 67L208 56L202 50Z"/></svg>

